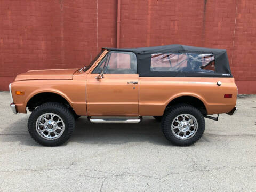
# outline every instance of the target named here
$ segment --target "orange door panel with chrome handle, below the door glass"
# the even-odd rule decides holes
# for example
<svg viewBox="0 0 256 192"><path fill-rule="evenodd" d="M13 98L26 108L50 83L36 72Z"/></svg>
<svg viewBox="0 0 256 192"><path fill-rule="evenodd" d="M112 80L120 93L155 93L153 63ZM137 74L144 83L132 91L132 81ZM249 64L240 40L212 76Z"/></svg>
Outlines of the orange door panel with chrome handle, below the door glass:
<svg viewBox="0 0 256 192"><path fill-rule="evenodd" d="M138 115L139 84L138 74L88 74L86 83L87 111L94 115Z"/></svg>

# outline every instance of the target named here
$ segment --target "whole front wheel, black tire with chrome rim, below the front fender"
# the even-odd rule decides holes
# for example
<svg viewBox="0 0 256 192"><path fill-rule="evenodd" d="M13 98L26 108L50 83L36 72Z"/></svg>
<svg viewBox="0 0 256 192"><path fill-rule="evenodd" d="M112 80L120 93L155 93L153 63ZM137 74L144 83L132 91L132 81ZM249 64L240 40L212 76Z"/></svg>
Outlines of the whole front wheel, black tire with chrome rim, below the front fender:
<svg viewBox="0 0 256 192"><path fill-rule="evenodd" d="M73 133L75 119L61 103L47 102L38 106L28 119L31 137L44 146L59 146Z"/></svg>

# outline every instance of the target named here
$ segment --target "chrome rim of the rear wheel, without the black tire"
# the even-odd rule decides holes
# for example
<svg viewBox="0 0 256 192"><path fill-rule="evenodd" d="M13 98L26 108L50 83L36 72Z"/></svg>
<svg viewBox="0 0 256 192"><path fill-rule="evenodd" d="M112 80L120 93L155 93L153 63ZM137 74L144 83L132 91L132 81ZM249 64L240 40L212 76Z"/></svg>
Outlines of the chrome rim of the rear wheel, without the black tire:
<svg viewBox="0 0 256 192"><path fill-rule="evenodd" d="M190 114L180 114L174 118L171 125L173 135L181 140L193 137L198 128L196 118Z"/></svg>

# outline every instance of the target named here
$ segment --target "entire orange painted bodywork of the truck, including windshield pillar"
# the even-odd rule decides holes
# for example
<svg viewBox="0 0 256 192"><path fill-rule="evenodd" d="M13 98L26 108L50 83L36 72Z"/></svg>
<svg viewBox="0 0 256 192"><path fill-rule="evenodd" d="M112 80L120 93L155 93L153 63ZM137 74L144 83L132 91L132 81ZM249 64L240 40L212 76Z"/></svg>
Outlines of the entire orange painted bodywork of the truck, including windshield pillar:
<svg viewBox="0 0 256 192"><path fill-rule="evenodd" d="M56 69L18 75L11 85L17 111L26 113L28 101L43 92L61 95L77 115L89 116L162 116L168 103L181 96L201 100L207 114L227 113L236 105L234 78L104 74L104 78L95 79L98 74L92 74L92 71L107 52L105 50L86 72ZM216 84L218 81L222 82L221 86ZM25 94L17 95L15 91ZM224 94L233 94L233 98L224 98Z"/></svg>

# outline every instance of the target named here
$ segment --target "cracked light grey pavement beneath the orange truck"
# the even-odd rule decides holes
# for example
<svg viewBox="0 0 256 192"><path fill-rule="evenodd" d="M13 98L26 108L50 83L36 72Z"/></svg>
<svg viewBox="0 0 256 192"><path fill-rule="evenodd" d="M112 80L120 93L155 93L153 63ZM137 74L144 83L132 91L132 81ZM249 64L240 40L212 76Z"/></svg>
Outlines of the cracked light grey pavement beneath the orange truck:
<svg viewBox="0 0 256 192"><path fill-rule="evenodd" d="M166 141L160 123L76 121L69 142L43 147L0 92L0 191L256 191L256 95L239 95L234 116L205 119L193 146Z"/></svg>

